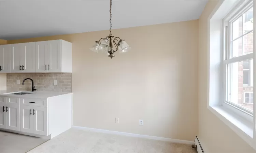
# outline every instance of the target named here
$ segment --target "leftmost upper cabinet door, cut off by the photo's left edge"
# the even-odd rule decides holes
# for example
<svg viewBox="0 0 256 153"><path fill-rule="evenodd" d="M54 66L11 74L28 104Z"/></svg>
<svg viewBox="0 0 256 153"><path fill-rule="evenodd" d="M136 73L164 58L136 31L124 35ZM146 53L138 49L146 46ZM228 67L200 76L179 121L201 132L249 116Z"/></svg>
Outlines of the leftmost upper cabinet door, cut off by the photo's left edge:
<svg viewBox="0 0 256 153"><path fill-rule="evenodd" d="M11 45L1 45L0 66L3 73L11 72Z"/></svg>

